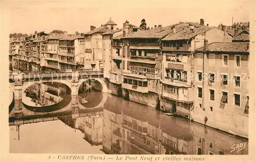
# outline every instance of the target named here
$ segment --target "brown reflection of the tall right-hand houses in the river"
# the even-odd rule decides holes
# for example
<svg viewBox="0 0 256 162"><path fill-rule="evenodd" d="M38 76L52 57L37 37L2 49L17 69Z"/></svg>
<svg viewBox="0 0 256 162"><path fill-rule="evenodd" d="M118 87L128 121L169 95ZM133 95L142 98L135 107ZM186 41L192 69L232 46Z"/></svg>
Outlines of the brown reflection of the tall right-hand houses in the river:
<svg viewBox="0 0 256 162"><path fill-rule="evenodd" d="M104 106L103 151L110 154L248 154L246 139L170 117L147 106L109 98ZM247 142L241 152L234 144Z"/></svg>

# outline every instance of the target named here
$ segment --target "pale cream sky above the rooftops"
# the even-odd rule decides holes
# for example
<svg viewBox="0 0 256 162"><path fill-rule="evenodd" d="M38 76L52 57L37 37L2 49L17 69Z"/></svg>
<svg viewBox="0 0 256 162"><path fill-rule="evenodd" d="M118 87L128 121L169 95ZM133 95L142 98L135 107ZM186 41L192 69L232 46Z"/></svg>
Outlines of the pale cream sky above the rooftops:
<svg viewBox="0 0 256 162"><path fill-rule="evenodd" d="M147 26L170 25L180 21L200 22L209 26L220 23L249 21L254 1L5 1L4 13L10 33L34 33L53 30L68 33L85 33L90 25L96 27L109 21L110 17L122 28L125 20L139 26L146 20Z"/></svg>

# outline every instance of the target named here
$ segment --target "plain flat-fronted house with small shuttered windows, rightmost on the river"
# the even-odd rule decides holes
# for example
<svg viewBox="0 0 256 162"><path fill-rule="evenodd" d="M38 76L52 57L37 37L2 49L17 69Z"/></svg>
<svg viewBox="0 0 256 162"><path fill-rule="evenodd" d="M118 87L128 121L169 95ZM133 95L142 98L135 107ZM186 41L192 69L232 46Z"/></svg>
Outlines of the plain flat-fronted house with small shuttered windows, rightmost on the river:
<svg viewBox="0 0 256 162"><path fill-rule="evenodd" d="M249 44L205 40L194 60L193 120L248 137Z"/></svg>

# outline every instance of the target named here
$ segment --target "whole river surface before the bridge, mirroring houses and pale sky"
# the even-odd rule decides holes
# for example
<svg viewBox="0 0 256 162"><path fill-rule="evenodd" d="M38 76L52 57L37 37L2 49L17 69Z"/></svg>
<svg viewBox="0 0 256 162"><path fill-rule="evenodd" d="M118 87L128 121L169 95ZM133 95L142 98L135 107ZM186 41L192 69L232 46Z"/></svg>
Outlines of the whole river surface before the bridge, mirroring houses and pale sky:
<svg viewBox="0 0 256 162"><path fill-rule="evenodd" d="M54 146L59 150L56 153L70 153L73 148L79 153L102 153L99 151L102 149L108 154L248 154L246 139L231 137L223 131L164 115L160 111L148 109L145 105L97 92L97 89L92 87L89 89L82 91L80 88L79 95L72 96L72 101L70 100L72 104L69 104L70 107L65 112L34 117L39 119L26 115L18 119L10 116L9 124L13 125L10 126L11 150L22 153L28 145L33 145L34 150L31 150L31 153L35 150L37 153L53 153L56 151L50 152L52 149L49 149L47 152L46 150L48 147L53 148L51 141L54 141L58 143ZM34 91L31 90L31 92ZM104 95L108 98L102 106L97 106L95 103L100 103L103 98L101 96ZM42 98L41 95L40 98ZM83 103L82 99L87 102ZM62 101L63 99L59 103ZM86 109L75 104L78 101L82 106L86 105ZM46 106L42 106L42 109L44 107ZM21 120L23 122L18 123ZM50 121L41 122L48 120ZM18 132L22 131L22 133L14 133L16 125L20 125ZM30 125L29 128L26 128L27 125ZM49 134L42 132L46 127L50 127L49 130L47 129ZM38 132L31 131L34 129ZM60 137L55 135L52 137L50 129L54 130L54 133L61 132L57 133ZM75 135L77 133L79 136ZM15 134L19 134L18 138L23 142L18 142ZM28 139L27 134L31 134L33 140ZM42 142L44 144L41 144ZM243 150L231 152L234 144L245 142L247 144ZM36 147L35 143L40 145ZM68 143L67 146L70 149L61 143Z"/></svg>

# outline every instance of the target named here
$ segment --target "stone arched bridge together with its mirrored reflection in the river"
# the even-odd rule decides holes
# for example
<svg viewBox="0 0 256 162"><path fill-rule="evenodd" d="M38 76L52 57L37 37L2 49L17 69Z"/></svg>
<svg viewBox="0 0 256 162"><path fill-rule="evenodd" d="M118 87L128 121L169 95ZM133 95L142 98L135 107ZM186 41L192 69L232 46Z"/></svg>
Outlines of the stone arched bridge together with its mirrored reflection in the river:
<svg viewBox="0 0 256 162"><path fill-rule="evenodd" d="M93 107L86 107L78 95L80 85L87 80L97 80L102 86L102 97ZM72 115L73 119L83 116L102 115L103 106L108 97L108 88L103 79L103 71L65 71L50 73L38 72L11 72L9 125L58 120L58 116ZM56 82L68 86L71 94L66 95L60 102L50 106L30 106L22 101L24 91L38 83Z"/></svg>

